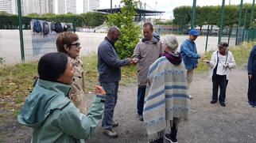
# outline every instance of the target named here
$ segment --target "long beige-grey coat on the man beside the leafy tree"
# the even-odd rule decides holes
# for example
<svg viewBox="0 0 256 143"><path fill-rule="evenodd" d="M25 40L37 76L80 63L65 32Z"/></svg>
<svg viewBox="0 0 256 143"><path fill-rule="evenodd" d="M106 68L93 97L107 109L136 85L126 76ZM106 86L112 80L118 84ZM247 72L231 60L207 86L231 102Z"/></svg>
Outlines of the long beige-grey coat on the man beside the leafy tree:
<svg viewBox="0 0 256 143"><path fill-rule="evenodd" d="M138 87L144 88L147 83L147 76L149 72L149 66L161 57L163 50L161 48L161 41L156 39L152 41L140 41L137 43L134 49L133 58L138 62Z"/></svg>

